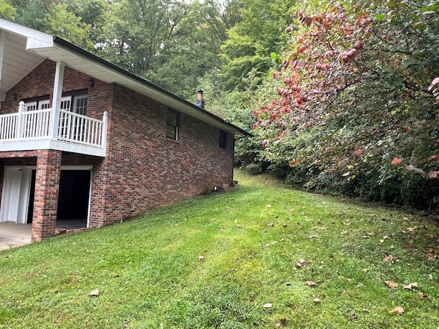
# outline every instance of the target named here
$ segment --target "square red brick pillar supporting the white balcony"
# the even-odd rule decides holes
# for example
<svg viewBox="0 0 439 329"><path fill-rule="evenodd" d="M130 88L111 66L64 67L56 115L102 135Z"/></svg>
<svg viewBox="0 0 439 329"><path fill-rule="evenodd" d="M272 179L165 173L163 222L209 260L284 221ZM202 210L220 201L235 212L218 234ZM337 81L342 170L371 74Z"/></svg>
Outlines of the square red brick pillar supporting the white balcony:
<svg viewBox="0 0 439 329"><path fill-rule="evenodd" d="M32 241L55 235L58 191L61 176L61 151L39 150L36 160Z"/></svg>

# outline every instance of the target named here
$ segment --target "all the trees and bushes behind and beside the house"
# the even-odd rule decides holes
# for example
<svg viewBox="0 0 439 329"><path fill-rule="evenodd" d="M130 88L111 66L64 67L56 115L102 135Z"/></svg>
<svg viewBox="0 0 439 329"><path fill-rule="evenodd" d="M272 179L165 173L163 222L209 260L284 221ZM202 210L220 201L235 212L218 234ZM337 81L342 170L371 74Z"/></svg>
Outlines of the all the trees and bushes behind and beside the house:
<svg viewBox="0 0 439 329"><path fill-rule="evenodd" d="M0 0L251 131L236 162L310 191L439 204L439 1Z"/></svg>

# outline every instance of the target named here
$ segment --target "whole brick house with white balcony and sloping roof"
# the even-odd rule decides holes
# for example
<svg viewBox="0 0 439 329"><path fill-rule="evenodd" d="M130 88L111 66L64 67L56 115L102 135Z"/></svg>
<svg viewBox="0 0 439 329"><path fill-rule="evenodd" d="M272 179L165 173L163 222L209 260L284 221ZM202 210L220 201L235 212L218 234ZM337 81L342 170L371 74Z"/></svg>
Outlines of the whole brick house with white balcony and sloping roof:
<svg viewBox="0 0 439 329"><path fill-rule="evenodd" d="M251 136L56 36L0 19L0 221L106 226L233 183Z"/></svg>

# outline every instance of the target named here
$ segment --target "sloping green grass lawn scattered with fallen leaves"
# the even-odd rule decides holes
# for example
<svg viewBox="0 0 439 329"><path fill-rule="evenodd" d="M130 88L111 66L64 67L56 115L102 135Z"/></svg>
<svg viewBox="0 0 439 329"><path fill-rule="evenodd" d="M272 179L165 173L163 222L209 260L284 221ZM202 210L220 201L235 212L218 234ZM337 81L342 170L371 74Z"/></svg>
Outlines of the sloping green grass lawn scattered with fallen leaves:
<svg viewBox="0 0 439 329"><path fill-rule="evenodd" d="M433 221L236 176L0 252L0 328L439 328Z"/></svg>

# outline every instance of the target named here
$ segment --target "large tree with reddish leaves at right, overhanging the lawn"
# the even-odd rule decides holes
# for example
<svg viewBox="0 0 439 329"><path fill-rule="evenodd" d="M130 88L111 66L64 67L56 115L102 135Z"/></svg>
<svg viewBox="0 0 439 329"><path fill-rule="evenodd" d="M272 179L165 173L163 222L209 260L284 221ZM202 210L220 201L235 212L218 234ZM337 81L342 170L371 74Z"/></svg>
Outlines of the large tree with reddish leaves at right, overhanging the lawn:
<svg viewBox="0 0 439 329"><path fill-rule="evenodd" d="M263 160L309 188L401 203L439 191L436 180L427 182L439 169L432 95L439 2L320 8L299 10L285 30L285 59L272 55L281 66L273 73L274 95L253 113Z"/></svg>

